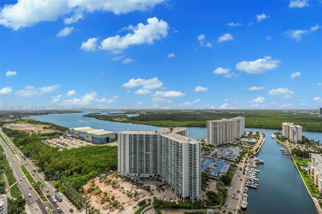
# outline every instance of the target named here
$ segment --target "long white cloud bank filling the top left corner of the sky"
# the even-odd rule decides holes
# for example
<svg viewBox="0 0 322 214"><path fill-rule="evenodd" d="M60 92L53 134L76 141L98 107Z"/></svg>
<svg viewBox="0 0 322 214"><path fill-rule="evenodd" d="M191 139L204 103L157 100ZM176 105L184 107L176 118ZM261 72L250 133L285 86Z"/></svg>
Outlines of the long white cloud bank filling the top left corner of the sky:
<svg viewBox="0 0 322 214"><path fill-rule="evenodd" d="M74 14L65 18L65 24L76 22L83 13L94 11L112 12L116 15L133 11L145 11L153 8L164 0L156 1L92 1L92 0L24 0L16 4L5 5L0 11L0 25L18 30L31 27L42 21L56 21L59 17Z"/></svg>

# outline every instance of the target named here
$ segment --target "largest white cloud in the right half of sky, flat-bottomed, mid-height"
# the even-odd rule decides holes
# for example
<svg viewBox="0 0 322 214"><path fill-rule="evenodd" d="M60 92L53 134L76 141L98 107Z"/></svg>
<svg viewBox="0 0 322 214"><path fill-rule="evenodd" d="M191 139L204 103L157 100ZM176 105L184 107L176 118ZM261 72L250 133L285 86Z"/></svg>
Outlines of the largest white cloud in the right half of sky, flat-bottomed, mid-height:
<svg viewBox="0 0 322 214"><path fill-rule="evenodd" d="M274 69L281 61L275 59L272 60L270 56L266 56L263 59L257 59L255 61L241 61L235 66L239 71L245 71L250 74L263 73L266 70Z"/></svg>

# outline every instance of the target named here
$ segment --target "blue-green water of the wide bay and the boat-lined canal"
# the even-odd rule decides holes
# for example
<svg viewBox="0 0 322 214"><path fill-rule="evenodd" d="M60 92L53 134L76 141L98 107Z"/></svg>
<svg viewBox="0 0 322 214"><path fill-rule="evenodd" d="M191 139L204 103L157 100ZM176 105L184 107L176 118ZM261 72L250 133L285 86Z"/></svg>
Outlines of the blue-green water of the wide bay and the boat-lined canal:
<svg viewBox="0 0 322 214"><path fill-rule="evenodd" d="M88 113L92 112L50 114L34 117L38 121L49 122L68 128L89 126L115 133L122 131L155 131L158 128L82 117ZM107 112L106 114L111 113L115 112ZM265 161L264 164L258 165L260 173L257 176L260 179L260 186L258 189L249 190L247 213L316 213L313 202L306 191L291 157L283 155L279 150L281 145L275 139L271 138L271 135L278 130L246 130L264 132L266 135L266 141L257 154L258 158ZM188 136L197 140L206 138L206 128L188 128ZM310 140L322 142L321 133L303 132L303 136Z"/></svg>

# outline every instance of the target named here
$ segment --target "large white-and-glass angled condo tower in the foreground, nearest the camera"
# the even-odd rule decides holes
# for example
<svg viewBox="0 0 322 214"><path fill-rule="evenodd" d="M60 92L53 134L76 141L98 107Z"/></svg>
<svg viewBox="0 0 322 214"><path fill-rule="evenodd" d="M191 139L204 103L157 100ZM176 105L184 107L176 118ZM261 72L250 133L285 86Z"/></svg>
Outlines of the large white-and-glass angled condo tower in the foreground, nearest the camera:
<svg viewBox="0 0 322 214"><path fill-rule="evenodd" d="M200 142L187 128L118 133L118 174L159 176L183 200L201 199Z"/></svg>

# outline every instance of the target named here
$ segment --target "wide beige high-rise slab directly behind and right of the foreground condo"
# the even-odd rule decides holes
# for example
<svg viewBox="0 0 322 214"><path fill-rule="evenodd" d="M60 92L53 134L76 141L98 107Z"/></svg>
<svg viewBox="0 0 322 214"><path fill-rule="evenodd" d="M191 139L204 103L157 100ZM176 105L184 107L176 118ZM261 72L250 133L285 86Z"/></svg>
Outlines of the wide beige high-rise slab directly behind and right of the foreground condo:
<svg viewBox="0 0 322 214"><path fill-rule="evenodd" d="M207 141L209 144L219 146L233 143L235 140L235 121L221 119L207 121Z"/></svg>

